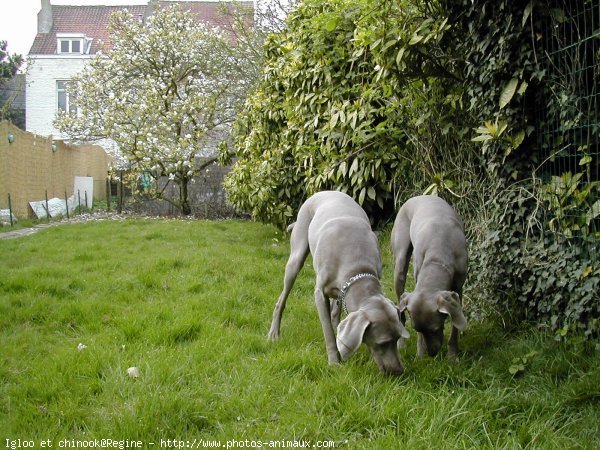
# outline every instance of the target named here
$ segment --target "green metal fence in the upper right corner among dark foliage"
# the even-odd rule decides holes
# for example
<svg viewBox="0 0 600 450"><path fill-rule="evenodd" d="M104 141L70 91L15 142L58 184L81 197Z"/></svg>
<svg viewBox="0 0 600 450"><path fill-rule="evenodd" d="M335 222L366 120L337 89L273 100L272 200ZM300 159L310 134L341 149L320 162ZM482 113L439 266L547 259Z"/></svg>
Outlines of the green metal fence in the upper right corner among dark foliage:
<svg viewBox="0 0 600 450"><path fill-rule="evenodd" d="M542 174L554 231L600 235L600 0L549 2L540 62L548 88L540 118ZM552 200L553 197L553 200Z"/></svg>

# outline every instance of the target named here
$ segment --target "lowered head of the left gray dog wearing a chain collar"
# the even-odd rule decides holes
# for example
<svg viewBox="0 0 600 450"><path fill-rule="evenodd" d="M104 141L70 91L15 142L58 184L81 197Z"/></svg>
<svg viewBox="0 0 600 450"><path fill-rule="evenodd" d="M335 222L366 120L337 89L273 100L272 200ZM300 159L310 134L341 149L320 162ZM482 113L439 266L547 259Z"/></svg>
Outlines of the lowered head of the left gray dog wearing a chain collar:
<svg viewBox="0 0 600 450"><path fill-rule="evenodd" d="M402 374L397 343L409 334L400 322L400 311L383 296L372 297L366 305L338 325L337 347L342 360L350 358L364 342L382 372Z"/></svg>

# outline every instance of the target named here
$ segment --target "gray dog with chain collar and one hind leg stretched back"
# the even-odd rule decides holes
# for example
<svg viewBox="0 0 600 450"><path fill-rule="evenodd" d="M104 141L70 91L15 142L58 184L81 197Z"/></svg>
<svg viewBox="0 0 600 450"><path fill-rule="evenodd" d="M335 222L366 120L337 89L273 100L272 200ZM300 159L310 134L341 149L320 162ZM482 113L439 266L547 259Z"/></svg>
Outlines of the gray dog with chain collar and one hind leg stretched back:
<svg viewBox="0 0 600 450"><path fill-rule="evenodd" d="M279 338L285 303L308 253L316 272L315 303L330 364L350 358L364 342L379 369L399 375L398 339L408 338L400 311L381 291L381 257L377 238L363 209L341 192L310 197L292 224L290 256L283 292L273 311L269 339ZM288 228L289 229L289 228ZM337 299L333 313L329 299ZM340 323L340 306L348 316ZM334 334L337 325L337 340Z"/></svg>

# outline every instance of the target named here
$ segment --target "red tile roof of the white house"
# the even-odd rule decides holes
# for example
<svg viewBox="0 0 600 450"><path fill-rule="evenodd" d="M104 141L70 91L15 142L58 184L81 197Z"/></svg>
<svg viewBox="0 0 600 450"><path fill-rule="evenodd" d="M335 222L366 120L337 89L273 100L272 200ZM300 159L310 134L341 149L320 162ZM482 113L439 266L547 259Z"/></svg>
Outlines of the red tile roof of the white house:
<svg viewBox="0 0 600 450"><path fill-rule="evenodd" d="M221 3L204 1L161 1L160 7L178 4L183 10L193 13L199 21L219 26L224 30L231 30L227 19L220 12ZM243 7L253 7L251 1L238 2ZM106 48L110 42L108 24L111 15L123 9L128 10L133 16L143 17L146 13L145 5L129 6L63 6L52 5L52 29L49 33L38 33L33 41L30 55L54 55L57 53L57 33L83 33L92 39L90 53L94 54L100 48ZM104 43L102 45L101 43Z"/></svg>

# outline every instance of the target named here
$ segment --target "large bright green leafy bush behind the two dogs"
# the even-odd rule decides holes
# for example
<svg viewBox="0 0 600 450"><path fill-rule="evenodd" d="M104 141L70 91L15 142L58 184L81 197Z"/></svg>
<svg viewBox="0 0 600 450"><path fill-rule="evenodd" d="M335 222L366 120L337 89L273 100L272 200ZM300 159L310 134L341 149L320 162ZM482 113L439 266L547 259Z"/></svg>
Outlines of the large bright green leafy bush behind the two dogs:
<svg viewBox="0 0 600 450"><path fill-rule="evenodd" d="M447 28L419 24L404 6L309 0L290 14L266 44L264 81L237 123L239 159L226 185L237 207L283 226L307 195L335 188L374 219L390 217L414 148L400 94L420 77L393 71L412 71L405 59Z"/></svg>

